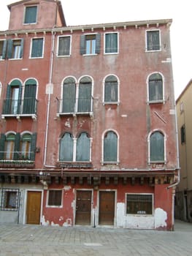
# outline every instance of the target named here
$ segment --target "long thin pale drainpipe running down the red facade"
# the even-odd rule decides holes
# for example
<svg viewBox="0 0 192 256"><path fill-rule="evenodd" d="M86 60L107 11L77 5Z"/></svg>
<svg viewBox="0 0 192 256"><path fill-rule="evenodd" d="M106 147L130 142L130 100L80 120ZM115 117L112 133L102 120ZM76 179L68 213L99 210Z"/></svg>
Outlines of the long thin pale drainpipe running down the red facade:
<svg viewBox="0 0 192 256"><path fill-rule="evenodd" d="M53 26L54 29L55 26ZM51 53L50 53L50 73L49 73L49 91L48 91L48 102L47 102L47 119L45 128L45 151L44 151L44 167L54 168L55 165L46 165L47 160L47 138L49 129L49 119L50 119L50 94L51 94L51 83L53 77L53 57L54 57L54 46L55 46L55 32L52 30L52 40L51 40Z"/></svg>

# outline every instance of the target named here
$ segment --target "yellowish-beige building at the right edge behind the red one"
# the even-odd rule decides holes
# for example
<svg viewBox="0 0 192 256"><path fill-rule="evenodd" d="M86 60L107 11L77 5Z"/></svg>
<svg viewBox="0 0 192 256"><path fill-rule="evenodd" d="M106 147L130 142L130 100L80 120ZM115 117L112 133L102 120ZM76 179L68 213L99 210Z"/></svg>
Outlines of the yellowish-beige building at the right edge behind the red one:
<svg viewBox="0 0 192 256"><path fill-rule="evenodd" d="M192 222L191 97L192 80L176 101L181 171L175 196L175 217L187 222Z"/></svg>

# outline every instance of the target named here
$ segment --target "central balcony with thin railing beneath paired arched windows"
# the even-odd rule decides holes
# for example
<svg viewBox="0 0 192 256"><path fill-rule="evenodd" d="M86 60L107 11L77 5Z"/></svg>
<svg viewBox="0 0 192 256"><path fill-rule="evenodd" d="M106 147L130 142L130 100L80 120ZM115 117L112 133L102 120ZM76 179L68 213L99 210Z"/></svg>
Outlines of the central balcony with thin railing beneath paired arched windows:
<svg viewBox="0 0 192 256"><path fill-rule="evenodd" d="M93 117L93 99L92 98L58 99L57 117L61 117L61 116Z"/></svg>

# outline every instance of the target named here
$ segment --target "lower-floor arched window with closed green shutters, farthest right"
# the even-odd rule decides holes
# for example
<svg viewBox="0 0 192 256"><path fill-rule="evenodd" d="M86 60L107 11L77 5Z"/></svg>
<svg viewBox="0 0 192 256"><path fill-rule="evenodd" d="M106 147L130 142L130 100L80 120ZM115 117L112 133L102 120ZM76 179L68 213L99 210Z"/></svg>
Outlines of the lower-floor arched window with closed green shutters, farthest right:
<svg viewBox="0 0 192 256"><path fill-rule="evenodd" d="M164 135L161 132L153 132L150 135L150 162L164 162Z"/></svg>

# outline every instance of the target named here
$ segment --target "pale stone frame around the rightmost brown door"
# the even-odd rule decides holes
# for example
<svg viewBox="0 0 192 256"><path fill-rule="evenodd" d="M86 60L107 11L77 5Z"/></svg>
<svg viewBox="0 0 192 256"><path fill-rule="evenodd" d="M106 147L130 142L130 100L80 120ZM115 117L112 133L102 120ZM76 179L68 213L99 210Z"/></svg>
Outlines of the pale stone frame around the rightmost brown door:
<svg viewBox="0 0 192 256"><path fill-rule="evenodd" d="M99 192L115 192L115 208L114 208L114 223L113 225L99 225ZM96 226L97 227L116 227L117 226L117 189L99 189L97 192L97 211L96 211Z"/></svg>

